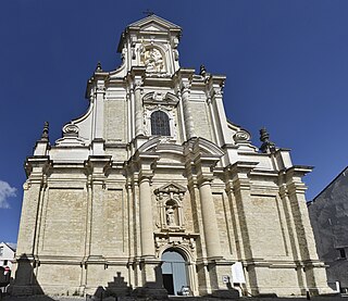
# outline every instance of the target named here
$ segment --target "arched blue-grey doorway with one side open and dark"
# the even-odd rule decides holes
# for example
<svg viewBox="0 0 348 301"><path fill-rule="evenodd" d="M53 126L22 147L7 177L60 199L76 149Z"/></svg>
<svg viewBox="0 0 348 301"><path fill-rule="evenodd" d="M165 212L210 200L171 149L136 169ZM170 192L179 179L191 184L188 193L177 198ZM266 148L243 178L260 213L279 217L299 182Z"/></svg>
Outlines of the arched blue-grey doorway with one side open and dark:
<svg viewBox="0 0 348 301"><path fill-rule="evenodd" d="M183 287L187 287L187 267L185 258L170 249L162 254L163 286L169 294L177 296Z"/></svg>

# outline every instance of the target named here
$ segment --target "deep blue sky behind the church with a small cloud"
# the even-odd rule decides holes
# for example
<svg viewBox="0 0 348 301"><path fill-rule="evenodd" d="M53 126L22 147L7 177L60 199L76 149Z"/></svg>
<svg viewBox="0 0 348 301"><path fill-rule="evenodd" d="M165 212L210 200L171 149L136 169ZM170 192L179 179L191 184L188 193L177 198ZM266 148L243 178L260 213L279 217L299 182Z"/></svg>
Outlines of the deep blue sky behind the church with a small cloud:
<svg viewBox="0 0 348 301"><path fill-rule="evenodd" d="M98 61L120 65L122 30L147 9L183 27L181 65L227 76L227 117L260 146L265 126L290 148L313 199L347 165L348 1L197 0L0 2L0 241L15 242L23 163L44 122L50 141L87 109Z"/></svg>

